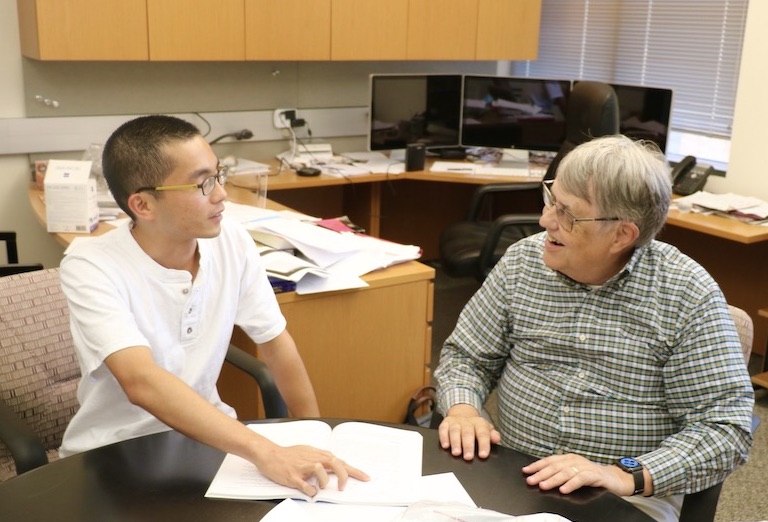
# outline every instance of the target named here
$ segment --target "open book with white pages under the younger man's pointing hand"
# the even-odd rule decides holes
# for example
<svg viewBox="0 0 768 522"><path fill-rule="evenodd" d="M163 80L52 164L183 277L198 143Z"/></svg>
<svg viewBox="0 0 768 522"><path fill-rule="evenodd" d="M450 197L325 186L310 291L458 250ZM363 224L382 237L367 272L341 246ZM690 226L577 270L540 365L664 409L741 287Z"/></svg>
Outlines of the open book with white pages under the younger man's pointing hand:
<svg viewBox="0 0 768 522"><path fill-rule="evenodd" d="M407 506L420 497L423 441L418 432L364 422L344 422L332 430L318 420L250 424L248 427L281 446L306 444L327 449L363 470L371 480L361 482L350 478L344 491L339 491L336 476L330 475L328 485L314 497L308 497L297 489L271 481L245 459L228 454L206 497L294 498L382 506Z"/></svg>

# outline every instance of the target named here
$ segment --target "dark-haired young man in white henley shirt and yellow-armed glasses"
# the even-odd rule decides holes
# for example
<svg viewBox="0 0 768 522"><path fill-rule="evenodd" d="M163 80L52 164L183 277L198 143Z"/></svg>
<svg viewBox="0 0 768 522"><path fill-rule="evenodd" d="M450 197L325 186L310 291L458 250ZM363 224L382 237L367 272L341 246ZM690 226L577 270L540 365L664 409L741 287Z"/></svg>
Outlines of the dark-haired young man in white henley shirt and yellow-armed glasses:
<svg viewBox="0 0 768 522"><path fill-rule="evenodd" d="M198 129L146 116L104 147L104 176L132 222L61 263L80 359L80 409L62 456L175 429L239 455L308 495L335 473L366 479L332 454L279 447L224 404L216 381L235 324L259 345L291 414L317 400L253 240L224 218L225 171Z"/></svg>

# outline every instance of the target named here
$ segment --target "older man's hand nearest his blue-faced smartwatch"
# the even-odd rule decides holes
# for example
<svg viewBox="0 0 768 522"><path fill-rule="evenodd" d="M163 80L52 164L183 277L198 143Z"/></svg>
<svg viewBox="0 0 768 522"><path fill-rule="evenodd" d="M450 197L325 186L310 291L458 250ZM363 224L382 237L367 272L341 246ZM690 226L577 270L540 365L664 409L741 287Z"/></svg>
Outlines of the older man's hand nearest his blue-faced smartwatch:
<svg viewBox="0 0 768 522"><path fill-rule="evenodd" d="M530 486L548 490L558 488L568 494L590 486L602 487L620 496L629 496L634 490L632 475L618 466L596 464L579 455L568 453L539 459L523 468Z"/></svg>

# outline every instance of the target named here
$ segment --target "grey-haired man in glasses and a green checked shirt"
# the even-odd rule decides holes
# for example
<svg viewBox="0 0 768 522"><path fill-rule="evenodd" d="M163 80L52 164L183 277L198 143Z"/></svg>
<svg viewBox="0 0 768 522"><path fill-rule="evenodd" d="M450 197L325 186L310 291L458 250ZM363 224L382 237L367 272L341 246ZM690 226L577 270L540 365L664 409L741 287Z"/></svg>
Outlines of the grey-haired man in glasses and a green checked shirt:
<svg viewBox="0 0 768 522"><path fill-rule="evenodd" d="M604 487L677 520L685 493L746 461L754 395L717 284L654 240L671 182L649 147L592 140L544 184L545 232L507 251L445 342L439 432L467 460L498 443L540 457L530 485ZM494 387L498 427L479 413Z"/></svg>

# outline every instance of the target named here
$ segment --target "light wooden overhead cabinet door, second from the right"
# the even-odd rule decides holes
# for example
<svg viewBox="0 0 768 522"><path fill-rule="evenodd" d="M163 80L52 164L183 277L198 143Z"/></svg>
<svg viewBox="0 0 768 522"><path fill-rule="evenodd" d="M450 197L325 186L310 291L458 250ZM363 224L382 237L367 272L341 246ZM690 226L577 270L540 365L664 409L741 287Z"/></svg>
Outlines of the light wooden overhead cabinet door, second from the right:
<svg viewBox="0 0 768 522"><path fill-rule="evenodd" d="M474 60L477 1L410 0L408 59Z"/></svg>

